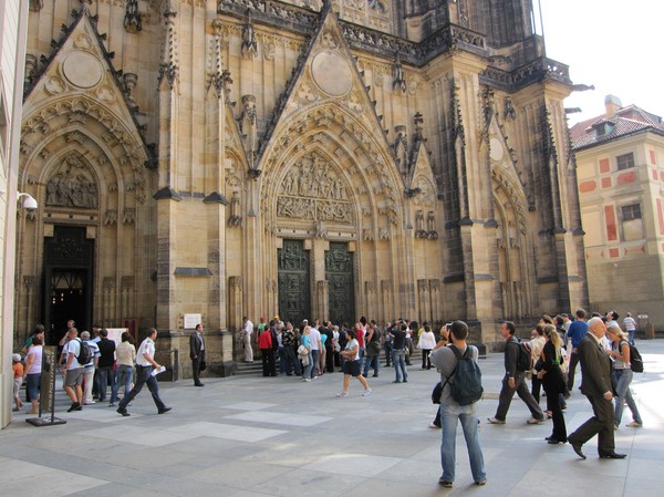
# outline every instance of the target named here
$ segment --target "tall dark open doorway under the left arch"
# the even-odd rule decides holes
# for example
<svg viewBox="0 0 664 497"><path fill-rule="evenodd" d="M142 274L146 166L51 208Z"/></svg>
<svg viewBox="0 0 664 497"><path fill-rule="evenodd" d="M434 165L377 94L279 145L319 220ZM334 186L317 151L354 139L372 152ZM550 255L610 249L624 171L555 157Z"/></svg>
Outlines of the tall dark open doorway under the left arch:
<svg viewBox="0 0 664 497"><path fill-rule="evenodd" d="M46 342L58 344L73 319L79 332L92 325L94 240L85 228L56 226L44 244L44 325Z"/></svg>

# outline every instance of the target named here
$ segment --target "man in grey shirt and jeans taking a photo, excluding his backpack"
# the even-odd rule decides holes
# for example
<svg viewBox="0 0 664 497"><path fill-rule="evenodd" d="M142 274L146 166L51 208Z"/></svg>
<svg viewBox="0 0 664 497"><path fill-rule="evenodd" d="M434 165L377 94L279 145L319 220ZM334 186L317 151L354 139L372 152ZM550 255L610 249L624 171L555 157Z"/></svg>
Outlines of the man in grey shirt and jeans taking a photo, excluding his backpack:
<svg viewBox="0 0 664 497"><path fill-rule="evenodd" d="M464 321L455 321L452 323L452 330L443 327L440 331L440 341L429 355L432 364L440 371L440 383L444 386L440 394L440 423L443 427L443 442L440 443L440 464L443 466L443 476L438 479L438 484L450 488L454 483L456 469L456 428L457 423L461 422L464 438L468 447L468 458L470 459L470 472L475 485L485 485L487 483L487 473L484 465L484 455L479 445L479 436L477 434L477 402L470 405L459 405L452 396L452 390L448 376L454 374L457 367L458 359L454 351L445 344L447 339L452 340L452 344L459 349L461 354L469 349L470 356L477 361L478 351L476 346L466 344L468 335L468 325ZM452 379L454 381L454 379Z"/></svg>

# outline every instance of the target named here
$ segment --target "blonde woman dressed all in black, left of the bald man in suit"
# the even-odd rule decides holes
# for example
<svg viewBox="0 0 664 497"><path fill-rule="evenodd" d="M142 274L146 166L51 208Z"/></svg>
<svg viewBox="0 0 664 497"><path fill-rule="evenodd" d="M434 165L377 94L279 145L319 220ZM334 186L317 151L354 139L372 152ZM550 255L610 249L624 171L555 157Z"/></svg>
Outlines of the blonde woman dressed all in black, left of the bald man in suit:
<svg viewBox="0 0 664 497"><path fill-rule="evenodd" d="M537 377L542 381L547 392L547 410L551 412L553 431L546 439L549 444L567 443L567 427L560 406L560 394L564 392L564 376L560 370L562 342L553 324L544 324L544 348L541 352L541 363L538 364Z"/></svg>

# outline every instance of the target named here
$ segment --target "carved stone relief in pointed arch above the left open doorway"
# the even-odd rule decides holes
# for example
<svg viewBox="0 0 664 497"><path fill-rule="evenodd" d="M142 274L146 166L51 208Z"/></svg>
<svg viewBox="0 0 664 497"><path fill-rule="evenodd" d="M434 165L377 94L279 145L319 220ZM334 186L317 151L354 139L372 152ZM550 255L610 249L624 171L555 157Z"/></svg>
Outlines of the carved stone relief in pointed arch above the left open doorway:
<svg viewBox="0 0 664 497"><path fill-rule="evenodd" d="M90 170L76 155L66 157L46 184L46 206L97 208L97 188Z"/></svg>

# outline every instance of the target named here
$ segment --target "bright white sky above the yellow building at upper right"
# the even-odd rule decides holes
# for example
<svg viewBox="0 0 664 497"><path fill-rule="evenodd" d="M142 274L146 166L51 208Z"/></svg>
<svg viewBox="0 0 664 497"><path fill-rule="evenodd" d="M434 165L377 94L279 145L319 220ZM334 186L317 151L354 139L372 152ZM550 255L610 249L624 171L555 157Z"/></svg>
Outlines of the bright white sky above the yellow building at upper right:
<svg viewBox="0 0 664 497"><path fill-rule="evenodd" d="M569 65L574 84L595 87L566 99L582 110L570 125L603 114L608 94L664 117L664 2L539 1L547 56Z"/></svg>

